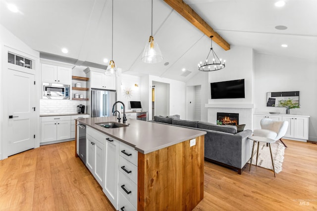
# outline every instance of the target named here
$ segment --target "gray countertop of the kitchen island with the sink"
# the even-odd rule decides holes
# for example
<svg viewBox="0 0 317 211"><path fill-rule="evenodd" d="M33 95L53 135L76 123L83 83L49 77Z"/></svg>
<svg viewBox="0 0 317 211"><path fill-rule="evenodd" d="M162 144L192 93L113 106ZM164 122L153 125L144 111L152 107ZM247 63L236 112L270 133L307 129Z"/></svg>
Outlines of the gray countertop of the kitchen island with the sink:
<svg viewBox="0 0 317 211"><path fill-rule="evenodd" d="M175 127L152 122L128 119L128 127L105 128L95 123L117 122L116 117L95 117L77 119L80 123L97 129L119 141L122 141L137 151L147 154L168 146L201 136L206 131Z"/></svg>

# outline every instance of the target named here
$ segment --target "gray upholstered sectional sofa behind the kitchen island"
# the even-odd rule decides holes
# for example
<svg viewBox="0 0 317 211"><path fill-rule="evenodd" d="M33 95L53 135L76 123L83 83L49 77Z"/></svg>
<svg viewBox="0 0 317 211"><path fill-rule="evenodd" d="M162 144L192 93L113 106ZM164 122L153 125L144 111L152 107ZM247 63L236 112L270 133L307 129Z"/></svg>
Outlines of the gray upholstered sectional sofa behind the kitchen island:
<svg viewBox="0 0 317 211"><path fill-rule="evenodd" d="M250 129L237 131L236 126L219 126L201 121L180 120L179 115L155 116L154 121L149 122L206 131L205 160L235 169L239 174L251 158L253 142L248 139L252 135Z"/></svg>

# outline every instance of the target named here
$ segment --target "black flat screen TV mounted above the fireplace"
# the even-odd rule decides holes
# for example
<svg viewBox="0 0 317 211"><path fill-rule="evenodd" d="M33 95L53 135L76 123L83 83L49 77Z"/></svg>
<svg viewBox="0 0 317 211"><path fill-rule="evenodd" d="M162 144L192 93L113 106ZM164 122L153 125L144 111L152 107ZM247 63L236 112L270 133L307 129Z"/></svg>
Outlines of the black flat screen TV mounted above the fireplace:
<svg viewBox="0 0 317 211"><path fill-rule="evenodd" d="M211 99L245 98L244 79L211 83Z"/></svg>

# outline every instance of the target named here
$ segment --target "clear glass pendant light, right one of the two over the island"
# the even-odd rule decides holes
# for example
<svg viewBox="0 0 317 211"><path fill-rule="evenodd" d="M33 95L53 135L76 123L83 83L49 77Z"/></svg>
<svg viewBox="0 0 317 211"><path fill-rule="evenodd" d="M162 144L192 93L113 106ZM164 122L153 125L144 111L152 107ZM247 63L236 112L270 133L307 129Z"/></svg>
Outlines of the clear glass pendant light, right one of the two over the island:
<svg viewBox="0 0 317 211"><path fill-rule="evenodd" d="M146 43L143 54L142 61L145 63L159 63L163 60L162 52L159 49L157 42L154 42L153 37L153 0L152 0L152 12L151 12L151 36L149 42Z"/></svg>

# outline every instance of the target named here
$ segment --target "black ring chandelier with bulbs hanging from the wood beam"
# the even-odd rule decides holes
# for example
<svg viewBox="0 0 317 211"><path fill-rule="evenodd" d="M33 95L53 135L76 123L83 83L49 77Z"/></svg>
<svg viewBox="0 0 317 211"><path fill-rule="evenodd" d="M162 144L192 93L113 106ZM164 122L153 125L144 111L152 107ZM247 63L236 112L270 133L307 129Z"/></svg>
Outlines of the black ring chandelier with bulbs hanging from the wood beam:
<svg viewBox="0 0 317 211"><path fill-rule="evenodd" d="M221 70L221 69L225 68L226 60L223 60L223 62L222 62L222 59L218 58L217 54L212 49L213 36L210 36L210 38L211 38L211 48L210 48L210 51L207 55L207 58L206 58L204 63L200 62L198 64L198 70L200 70L200 71L216 71L216 70ZM211 52L212 52L212 54L211 54Z"/></svg>

